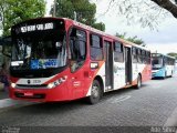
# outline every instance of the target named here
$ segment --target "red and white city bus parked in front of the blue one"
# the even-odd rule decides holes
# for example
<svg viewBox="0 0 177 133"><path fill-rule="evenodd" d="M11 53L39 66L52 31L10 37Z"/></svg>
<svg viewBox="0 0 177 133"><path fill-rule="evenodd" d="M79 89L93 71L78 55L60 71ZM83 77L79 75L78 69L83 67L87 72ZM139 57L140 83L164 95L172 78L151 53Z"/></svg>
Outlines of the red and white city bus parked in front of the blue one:
<svg viewBox="0 0 177 133"><path fill-rule="evenodd" d="M140 88L152 78L150 51L64 18L38 18L11 29L10 98L40 102Z"/></svg>

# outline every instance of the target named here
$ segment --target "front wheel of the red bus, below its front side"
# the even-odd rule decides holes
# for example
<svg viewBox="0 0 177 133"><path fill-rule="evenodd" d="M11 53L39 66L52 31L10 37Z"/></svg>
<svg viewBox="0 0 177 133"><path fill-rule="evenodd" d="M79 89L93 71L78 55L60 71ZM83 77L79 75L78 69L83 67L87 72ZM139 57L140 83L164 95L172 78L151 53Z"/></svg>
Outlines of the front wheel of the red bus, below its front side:
<svg viewBox="0 0 177 133"><path fill-rule="evenodd" d="M92 83L91 95L87 98L90 104L95 104L101 99L101 84L97 80Z"/></svg>

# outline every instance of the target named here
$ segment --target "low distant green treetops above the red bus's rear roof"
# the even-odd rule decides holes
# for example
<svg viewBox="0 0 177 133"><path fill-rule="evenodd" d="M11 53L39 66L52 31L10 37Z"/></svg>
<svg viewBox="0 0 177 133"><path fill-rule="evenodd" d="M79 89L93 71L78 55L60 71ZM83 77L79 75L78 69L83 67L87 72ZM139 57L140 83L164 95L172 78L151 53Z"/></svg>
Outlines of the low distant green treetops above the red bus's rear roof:
<svg viewBox="0 0 177 133"><path fill-rule="evenodd" d="M118 38L121 38L121 39L125 39L125 40L127 40L127 41L131 41L131 42L133 42L133 43L143 45L143 47L146 45L145 42L144 42L142 39L138 39L138 38L137 38L137 35L126 38L126 32L124 32L123 34L116 33L115 35L118 37Z"/></svg>

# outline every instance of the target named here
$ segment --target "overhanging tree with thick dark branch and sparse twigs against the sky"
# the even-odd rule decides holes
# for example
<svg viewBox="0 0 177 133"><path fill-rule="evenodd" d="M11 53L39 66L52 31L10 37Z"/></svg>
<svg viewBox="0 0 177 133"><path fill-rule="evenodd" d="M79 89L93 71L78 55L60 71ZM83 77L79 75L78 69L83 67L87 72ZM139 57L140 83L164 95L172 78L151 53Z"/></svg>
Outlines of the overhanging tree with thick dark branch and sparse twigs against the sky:
<svg viewBox="0 0 177 133"><path fill-rule="evenodd" d="M157 28L168 12L177 18L177 0L108 0L107 4L104 13L111 11L123 14L128 24L139 22L143 28Z"/></svg>

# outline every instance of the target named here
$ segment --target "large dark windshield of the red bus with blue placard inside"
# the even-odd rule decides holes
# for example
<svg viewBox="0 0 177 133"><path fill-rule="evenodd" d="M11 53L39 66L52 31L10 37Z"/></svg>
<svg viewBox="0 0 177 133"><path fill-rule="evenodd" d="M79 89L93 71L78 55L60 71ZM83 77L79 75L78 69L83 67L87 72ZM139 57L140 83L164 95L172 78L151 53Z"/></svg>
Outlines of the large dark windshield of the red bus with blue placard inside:
<svg viewBox="0 0 177 133"><path fill-rule="evenodd" d="M48 69L66 65L65 32L33 31L12 37L13 70Z"/></svg>

